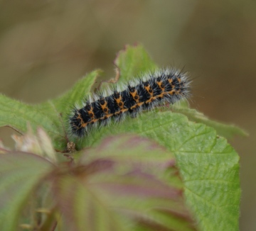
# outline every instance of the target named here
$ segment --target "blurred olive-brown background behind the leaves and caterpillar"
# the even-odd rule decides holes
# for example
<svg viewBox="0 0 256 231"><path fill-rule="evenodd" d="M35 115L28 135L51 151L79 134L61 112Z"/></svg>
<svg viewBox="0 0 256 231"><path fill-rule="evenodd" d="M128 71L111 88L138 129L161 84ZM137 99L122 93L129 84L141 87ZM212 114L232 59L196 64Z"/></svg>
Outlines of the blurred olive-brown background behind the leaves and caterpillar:
<svg viewBox="0 0 256 231"><path fill-rule="evenodd" d="M93 69L114 77L115 55L134 43L160 67L190 72L191 107L250 133L230 142L240 154L240 230L256 230L256 1L0 0L0 92L39 103ZM0 129L6 145L13 133Z"/></svg>

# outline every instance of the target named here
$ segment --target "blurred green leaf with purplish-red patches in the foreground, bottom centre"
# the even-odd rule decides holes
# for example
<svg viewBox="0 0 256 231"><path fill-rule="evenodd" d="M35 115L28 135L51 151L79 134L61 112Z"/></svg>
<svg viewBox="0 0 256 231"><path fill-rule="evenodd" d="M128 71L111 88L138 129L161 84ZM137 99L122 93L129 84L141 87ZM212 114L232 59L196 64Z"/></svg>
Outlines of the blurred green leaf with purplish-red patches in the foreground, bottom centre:
<svg viewBox="0 0 256 231"><path fill-rule="evenodd" d="M194 230L174 157L142 137L108 137L53 186L68 230Z"/></svg>

